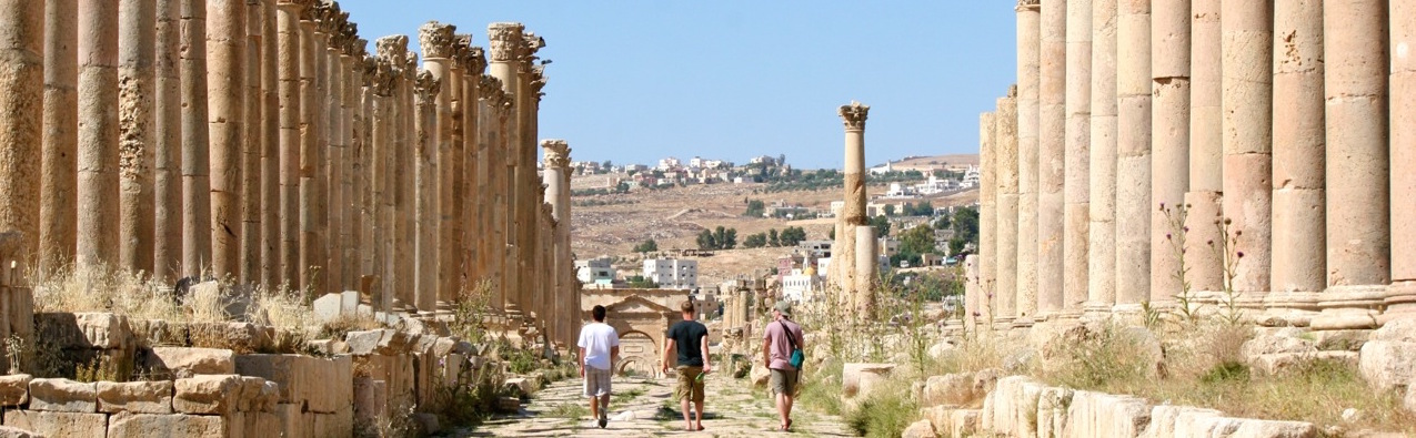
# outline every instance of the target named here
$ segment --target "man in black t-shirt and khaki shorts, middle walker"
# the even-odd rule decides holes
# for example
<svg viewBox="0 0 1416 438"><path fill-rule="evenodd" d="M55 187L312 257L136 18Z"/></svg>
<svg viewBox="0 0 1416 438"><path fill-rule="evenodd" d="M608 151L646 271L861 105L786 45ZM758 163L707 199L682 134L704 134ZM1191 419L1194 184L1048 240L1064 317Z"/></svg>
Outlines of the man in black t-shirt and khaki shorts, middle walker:
<svg viewBox="0 0 1416 438"><path fill-rule="evenodd" d="M678 308L684 312L684 321L668 328L663 372L667 374L668 365L675 365L675 370L678 370L675 397L681 400L684 408L684 428L701 431L704 430L704 380L701 374L712 370L708 360L708 328L702 322L694 321L692 301L684 301ZM673 355L678 357L673 357ZM698 413L698 424L694 424L688 417L690 401Z"/></svg>

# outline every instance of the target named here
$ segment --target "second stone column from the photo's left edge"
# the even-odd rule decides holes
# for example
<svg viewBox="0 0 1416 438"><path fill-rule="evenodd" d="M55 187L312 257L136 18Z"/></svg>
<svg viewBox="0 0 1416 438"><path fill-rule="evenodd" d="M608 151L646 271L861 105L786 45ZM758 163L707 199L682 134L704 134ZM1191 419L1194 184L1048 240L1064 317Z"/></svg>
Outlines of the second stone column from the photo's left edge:
<svg viewBox="0 0 1416 438"><path fill-rule="evenodd" d="M7 6L6 14L31 13L28 8L34 3L33 0L17 0L10 1L11 4L23 6ZM17 7L13 8L11 7ZM176 10L174 10L176 11ZM78 0L45 0L44 1L44 47L38 51L44 55L42 69L44 69L44 123L42 131L37 136L42 136L41 146L41 164L40 164L40 215L38 226L31 233L33 237L25 239L30 244L38 243L40 263L38 268L41 273L54 273L65 263L74 260L75 249L75 223L78 220L78 212L75 211L75 189L78 177L78 95L75 89L78 86L78 28L75 21L78 20ZM14 31L40 31L40 27L25 27L34 25L27 23L27 16L16 16L10 18L7 16L6 23L17 23L21 25L11 27ZM25 35L27 37L27 35ZM23 41L23 40L8 40L8 41ZM176 45L173 47L176 48ZM28 51L31 48L23 48ZM21 52L21 57L27 52ZM16 58L18 59L18 58ZM31 66L33 68L33 66ZM18 79L18 76L17 76ZM28 81L28 78L24 78ZM24 86L21 86L24 89ZM20 95L6 93L6 96ZM25 123L28 120L25 119ZM18 123L7 122L7 123ZM23 126L23 124L21 124ZM6 129L6 131L10 131ZM24 133L23 130L16 133ZM8 147L27 147L31 144L27 140L10 138L3 144ZM17 153L13 157L30 157L30 154ZM18 172L7 171L6 175L14 175L16 181L34 181L34 178L23 178ZM34 189L17 191L21 194L31 194ZM7 195L8 196L8 195ZM23 213L17 218L23 218Z"/></svg>

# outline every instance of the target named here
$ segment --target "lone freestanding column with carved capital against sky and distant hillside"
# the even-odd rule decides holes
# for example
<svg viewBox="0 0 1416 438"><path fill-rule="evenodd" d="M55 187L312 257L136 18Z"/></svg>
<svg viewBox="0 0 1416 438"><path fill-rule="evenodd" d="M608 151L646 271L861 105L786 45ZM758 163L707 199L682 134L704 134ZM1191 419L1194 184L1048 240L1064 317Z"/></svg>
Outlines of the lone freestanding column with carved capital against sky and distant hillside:
<svg viewBox="0 0 1416 438"><path fill-rule="evenodd" d="M874 311L874 302L865 301L874 297L860 295L854 263L858 243L855 227L869 227L865 216L865 119L869 117L869 112L868 105L854 100L837 109L837 114L845 123L845 205L841 208L841 216L835 219L840 232L831 246L831 264L837 266L843 298L850 297L843 301L852 302L858 309ZM869 315L869 312L861 314L862 318L871 318Z"/></svg>

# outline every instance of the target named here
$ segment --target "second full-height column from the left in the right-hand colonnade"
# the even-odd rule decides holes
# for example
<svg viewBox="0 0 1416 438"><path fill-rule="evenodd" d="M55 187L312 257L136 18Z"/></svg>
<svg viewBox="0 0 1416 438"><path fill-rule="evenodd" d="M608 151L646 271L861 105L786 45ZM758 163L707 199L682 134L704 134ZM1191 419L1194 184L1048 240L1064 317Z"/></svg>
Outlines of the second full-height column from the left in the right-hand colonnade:
<svg viewBox="0 0 1416 438"><path fill-rule="evenodd" d="M1066 0L1042 1L1038 73L1038 315L1062 311L1066 165Z"/></svg>

